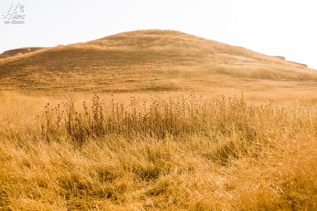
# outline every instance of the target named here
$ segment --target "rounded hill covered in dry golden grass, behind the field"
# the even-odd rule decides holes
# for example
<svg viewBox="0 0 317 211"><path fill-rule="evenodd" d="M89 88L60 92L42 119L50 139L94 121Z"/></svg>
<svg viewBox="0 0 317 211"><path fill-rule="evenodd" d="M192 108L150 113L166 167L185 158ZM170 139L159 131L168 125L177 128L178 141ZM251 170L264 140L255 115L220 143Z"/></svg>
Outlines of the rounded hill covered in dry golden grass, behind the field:
<svg viewBox="0 0 317 211"><path fill-rule="evenodd" d="M142 30L0 59L0 89L24 93L208 90L246 81L316 84L316 71L178 31ZM292 86L294 84L291 84Z"/></svg>

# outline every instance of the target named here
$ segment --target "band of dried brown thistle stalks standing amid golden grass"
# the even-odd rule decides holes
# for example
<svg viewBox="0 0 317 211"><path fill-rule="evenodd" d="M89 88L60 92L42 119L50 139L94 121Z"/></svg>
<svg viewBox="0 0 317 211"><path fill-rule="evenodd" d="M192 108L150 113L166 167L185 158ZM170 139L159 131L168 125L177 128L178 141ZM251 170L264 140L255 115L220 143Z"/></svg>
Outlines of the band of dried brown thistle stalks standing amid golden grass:
<svg viewBox="0 0 317 211"><path fill-rule="evenodd" d="M63 133L67 131L77 141L89 137L89 134L119 134L121 136L151 136L164 139L169 136L213 133L237 134L243 139L264 138L267 121L278 124L284 119L283 109L277 109L272 102L256 107L247 104L236 96L226 102L220 100L203 100L191 94L188 98L178 96L175 101L151 97L150 104L141 104L133 96L129 105L109 104L94 96L92 104L83 102L82 109L75 109L74 99L61 102L56 107L49 103L45 106L46 133ZM41 131L43 133L43 131Z"/></svg>

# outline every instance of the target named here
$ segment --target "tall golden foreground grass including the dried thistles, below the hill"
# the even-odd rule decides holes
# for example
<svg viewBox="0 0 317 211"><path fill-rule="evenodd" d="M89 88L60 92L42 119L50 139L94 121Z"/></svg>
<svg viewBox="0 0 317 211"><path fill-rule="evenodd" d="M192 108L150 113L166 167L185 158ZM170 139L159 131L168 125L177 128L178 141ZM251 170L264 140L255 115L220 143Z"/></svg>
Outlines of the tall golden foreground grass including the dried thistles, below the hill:
<svg viewBox="0 0 317 211"><path fill-rule="evenodd" d="M0 208L317 206L314 106L192 93L128 102L94 96L42 111L18 132L1 129Z"/></svg>

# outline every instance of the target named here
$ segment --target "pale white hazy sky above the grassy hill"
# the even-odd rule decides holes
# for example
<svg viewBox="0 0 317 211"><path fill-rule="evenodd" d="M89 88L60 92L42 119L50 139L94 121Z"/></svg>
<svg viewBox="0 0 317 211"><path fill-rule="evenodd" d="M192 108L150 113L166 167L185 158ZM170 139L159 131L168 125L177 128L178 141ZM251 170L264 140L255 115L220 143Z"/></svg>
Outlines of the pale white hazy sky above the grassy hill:
<svg viewBox="0 0 317 211"><path fill-rule="evenodd" d="M5 24L10 4L24 24ZM24 6L24 12L20 6ZM0 2L0 53L86 42L139 29L174 29L317 69L317 1ZM12 21L13 17L9 21ZM14 19L16 20L16 19Z"/></svg>

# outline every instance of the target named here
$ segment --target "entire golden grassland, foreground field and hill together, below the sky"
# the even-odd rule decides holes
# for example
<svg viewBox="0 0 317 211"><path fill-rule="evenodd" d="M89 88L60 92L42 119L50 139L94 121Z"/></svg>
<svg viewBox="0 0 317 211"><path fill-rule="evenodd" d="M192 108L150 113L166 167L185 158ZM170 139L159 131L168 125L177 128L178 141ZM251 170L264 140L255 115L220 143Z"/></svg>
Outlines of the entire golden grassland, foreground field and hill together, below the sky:
<svg viewBox="0 0 317 211"><path fill-rule="evenodd" d="M317 210L316 141L317 71L243 47L143 30L0 57L3 210Z"/></svg>

